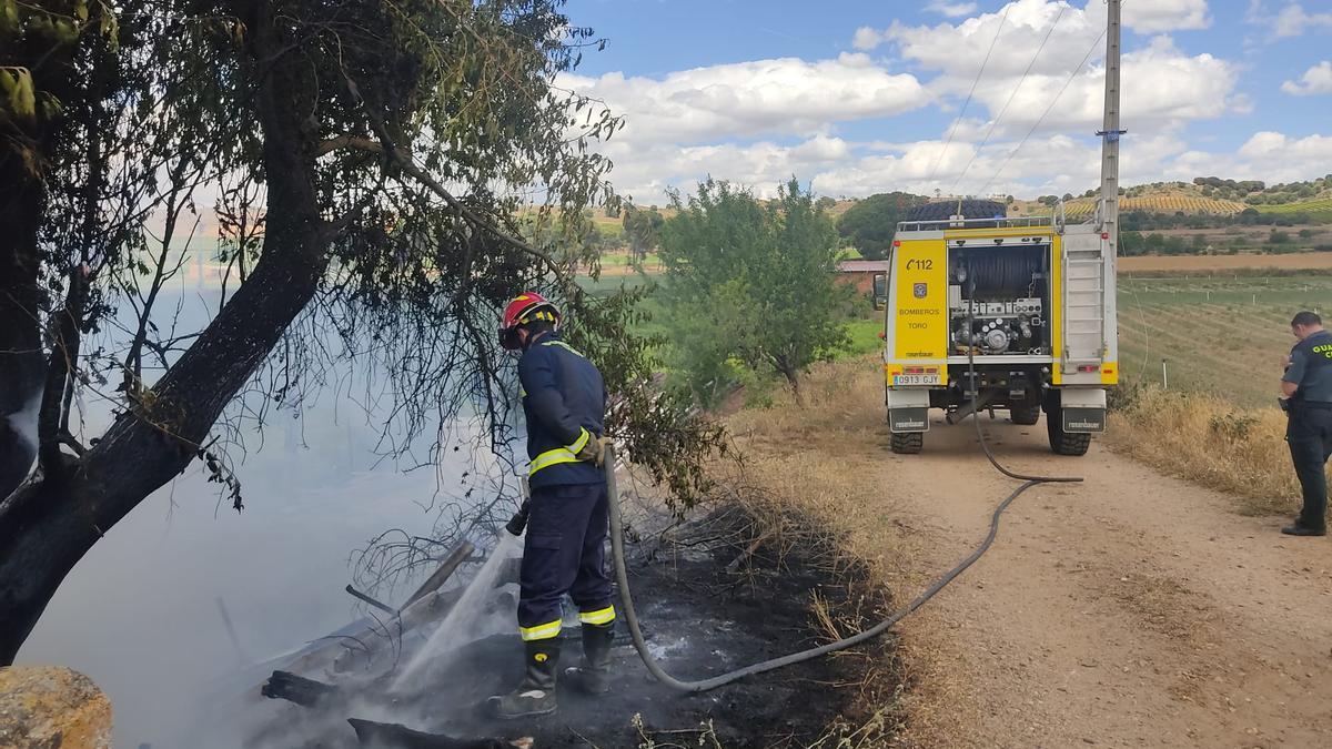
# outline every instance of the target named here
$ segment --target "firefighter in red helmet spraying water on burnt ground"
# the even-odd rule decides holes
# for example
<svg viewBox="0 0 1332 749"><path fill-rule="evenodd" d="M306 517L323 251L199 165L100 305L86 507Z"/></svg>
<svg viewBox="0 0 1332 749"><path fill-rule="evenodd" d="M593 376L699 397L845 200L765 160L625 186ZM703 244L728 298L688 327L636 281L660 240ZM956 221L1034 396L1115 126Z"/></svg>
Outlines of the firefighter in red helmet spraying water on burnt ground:
<svg viewBox="0 0 1332 749"><path fill-rule="evenodd" d="M492 697L489 706L496 717L519 718L555 710L566 593L578 606L583 660L565 676L585 692L609 690L615 608L605 565L610 522L601 470L606 386L601 372L559 339L559 311L538 293L509 303L500 343L522 351L518 380L531 501L518 600L525 672L514 692Z"/></svg>

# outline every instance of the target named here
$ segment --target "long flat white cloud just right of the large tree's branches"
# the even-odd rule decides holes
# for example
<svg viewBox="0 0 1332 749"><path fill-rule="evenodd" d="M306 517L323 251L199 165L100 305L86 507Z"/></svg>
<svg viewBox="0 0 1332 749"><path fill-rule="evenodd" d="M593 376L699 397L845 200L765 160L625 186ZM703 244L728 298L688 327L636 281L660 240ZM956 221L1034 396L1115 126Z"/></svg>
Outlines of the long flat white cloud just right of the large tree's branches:
<svg viewBox="0 0 1332 749"><path fill-rule="evenodd" d="M642 144L810 136L834 121L888 117L931 100L915 76L854 53L814 63L783 57L713 65L663 79L567 76L561 84L605 101L626 120L615 137Z"/></svg>

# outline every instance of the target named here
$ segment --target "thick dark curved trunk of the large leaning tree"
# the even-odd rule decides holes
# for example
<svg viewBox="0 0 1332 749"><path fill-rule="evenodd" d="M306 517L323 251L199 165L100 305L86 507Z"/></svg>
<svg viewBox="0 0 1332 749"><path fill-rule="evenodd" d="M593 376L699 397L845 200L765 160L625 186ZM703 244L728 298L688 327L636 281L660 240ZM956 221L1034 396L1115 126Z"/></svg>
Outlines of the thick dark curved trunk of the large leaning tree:
<svg viewBox="0 0 1332 749"><path fill-rule="evenodd" d="M75 564L120 518L193 460L213 422L318 289L332 235L314 188L316 137L298 52L268 17L245 19L262 63L256 115L264 132L268 232L249 279L194 344L67 468L43 470L0 501L0 665L19 646ZM256 73L257 75L257 73ZM96 618L96 614L91 614Z"/></svg>

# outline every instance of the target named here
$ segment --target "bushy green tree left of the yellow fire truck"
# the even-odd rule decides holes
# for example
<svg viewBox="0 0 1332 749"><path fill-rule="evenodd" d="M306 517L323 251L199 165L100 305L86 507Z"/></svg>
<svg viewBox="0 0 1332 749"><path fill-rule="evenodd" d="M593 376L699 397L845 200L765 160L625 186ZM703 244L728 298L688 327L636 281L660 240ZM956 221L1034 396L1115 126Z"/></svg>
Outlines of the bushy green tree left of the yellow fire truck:
<svg viewBox="0 0 1332 749"><path fill-rule="evenodd" d="M662 300L677 363L705 402L730 361L801 374L847 343L852 289L836 284L836 231L793 177L774 201L707 180L662 231Z"/></svg>

